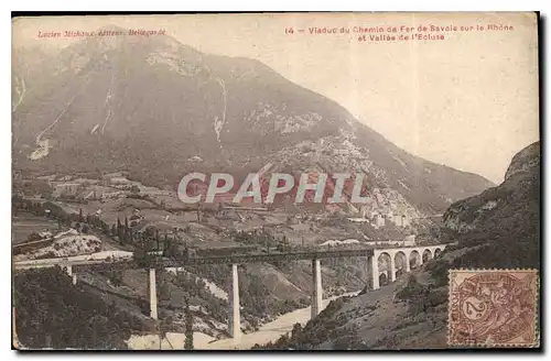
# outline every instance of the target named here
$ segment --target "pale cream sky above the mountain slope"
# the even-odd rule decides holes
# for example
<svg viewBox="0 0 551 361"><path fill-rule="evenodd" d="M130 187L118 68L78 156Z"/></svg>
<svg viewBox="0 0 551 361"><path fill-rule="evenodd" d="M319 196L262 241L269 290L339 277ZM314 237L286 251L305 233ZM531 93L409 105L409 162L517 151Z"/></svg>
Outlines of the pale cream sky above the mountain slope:
<svg viewBox="0 0 551 361"><path fill-rule="evenodd" d="M64 17L15 20L12 39L14 46L58 47L72 40L39 39L39 31L90 31L107 24L164 29L204 53L256 58L335 100L409 153L497 184L511 157L539 140L532 13ZM434 31L422 34L444 40L369 41L369 35L411 36L401 26L417 32L431 25ZM385 32L355 33L355 26ZM389 26L397 32L388 32ZM293 33L285 33L291 28ZM311 34L311 28L336 28L337 34ZM350 32L338 33L342 28ZM367 41L359 41L364 34Z"/></svg>

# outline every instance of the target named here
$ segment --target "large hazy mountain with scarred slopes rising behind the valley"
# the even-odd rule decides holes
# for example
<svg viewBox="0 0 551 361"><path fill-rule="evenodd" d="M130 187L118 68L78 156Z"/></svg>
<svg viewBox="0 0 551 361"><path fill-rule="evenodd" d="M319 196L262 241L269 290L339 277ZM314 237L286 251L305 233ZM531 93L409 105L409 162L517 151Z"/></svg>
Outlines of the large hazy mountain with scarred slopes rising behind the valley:
<svg viewBox="0 0 551 361"><path fill-rule="evenodd" d="M54 70L33 81L35 70L22 72L15 166L127 168L145 183L175 185L195 169L246 172L287 160L281 167L303 172L321 162L332 172L366 173L418 214L493 185L399 149L259 61L203 54L171 37L80 40L46 69Z"/></svg>

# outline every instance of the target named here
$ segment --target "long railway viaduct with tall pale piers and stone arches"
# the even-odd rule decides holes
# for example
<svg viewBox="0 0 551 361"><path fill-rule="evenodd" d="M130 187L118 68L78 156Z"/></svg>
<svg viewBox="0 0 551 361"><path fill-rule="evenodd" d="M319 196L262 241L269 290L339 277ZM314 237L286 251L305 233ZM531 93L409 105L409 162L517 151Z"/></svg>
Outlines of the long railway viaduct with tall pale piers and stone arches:
<svg viewBox="0 0 551 361"><path fill-rule="evenodd" d="M150 295L150 315L158 319L156 300L156 270L162 269L185 269L193 265L205 264L228 264L231 267L231 285L228 292L229 317L228 330L234 339L239 339L241 335L240 307L239 307L239 264L277 262L277 261L300 261L310 260L312 262L312 318L316 317L322 310L322 269L321 260L335 258L366 256L368 264L368 274L370 274L371 289L378 289L381 283L395 282L397 277L411 272L433 258L437 258L445 249L445 244L434 245L414 245L397 248L364 248L364 249L333 249L327 251L296 251L289 253L271 254L234 254L223 256L203 256L190 258L185 260L173 260L166 258L155 259L149 264L149 295ZM87 260L73 261L71 258L65 260L37 260L32 263L15 263L15 270L25 270L34 267L48 267L61 265L66 269L73 277L73 283L77 282L77 274L85 271L106 270L106 269L143 269L133 260Z"/></svg>

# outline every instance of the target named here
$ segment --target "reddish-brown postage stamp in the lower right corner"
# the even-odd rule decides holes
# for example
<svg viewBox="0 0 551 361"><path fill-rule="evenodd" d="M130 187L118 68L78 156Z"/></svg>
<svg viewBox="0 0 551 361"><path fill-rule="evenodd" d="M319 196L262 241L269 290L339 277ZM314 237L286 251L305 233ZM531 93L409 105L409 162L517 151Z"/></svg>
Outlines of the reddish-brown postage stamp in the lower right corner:
<svg viewBox="0 0 551 361"><path fill-rule="evenodd" d="M537 270L450 270L447 342L537 347Z"/></svg>

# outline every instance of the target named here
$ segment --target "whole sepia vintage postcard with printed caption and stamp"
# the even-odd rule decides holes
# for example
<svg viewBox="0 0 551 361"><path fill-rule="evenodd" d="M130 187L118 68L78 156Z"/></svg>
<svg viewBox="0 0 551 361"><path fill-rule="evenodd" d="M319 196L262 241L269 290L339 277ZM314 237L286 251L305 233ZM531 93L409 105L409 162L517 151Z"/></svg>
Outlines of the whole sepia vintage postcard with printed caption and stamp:
<svg viewBox="0 0 551 361"><path fill-rule="evenodd" d="M13 348L540 348L538 24L13 18Z"/></svg>

